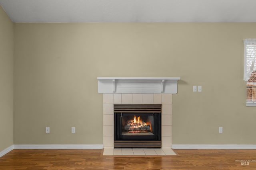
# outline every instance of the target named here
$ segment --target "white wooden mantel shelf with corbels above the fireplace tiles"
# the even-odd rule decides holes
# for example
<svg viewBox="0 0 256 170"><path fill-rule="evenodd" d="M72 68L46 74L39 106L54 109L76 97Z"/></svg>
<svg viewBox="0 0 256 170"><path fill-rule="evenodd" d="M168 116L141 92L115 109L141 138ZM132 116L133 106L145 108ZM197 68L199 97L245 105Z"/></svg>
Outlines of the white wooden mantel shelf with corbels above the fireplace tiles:
<svg viewBox="0 0 256 170"><path fill-rule="evenodd" d="M98 77L100 94L176 94L180 77Z"/></svg>

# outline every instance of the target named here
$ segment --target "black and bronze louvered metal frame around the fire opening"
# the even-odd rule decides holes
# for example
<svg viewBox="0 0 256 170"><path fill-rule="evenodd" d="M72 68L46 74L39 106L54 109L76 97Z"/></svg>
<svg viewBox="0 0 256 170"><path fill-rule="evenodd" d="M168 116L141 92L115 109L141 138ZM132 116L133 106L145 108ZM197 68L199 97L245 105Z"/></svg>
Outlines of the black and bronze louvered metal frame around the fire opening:
<svg viewBox="0 0 256 170"><path fill-rule="evenodd" d="M114 148L161 148L161 104L114 104ZM122 116L152 115L152 135L122 135Z"/></svg>

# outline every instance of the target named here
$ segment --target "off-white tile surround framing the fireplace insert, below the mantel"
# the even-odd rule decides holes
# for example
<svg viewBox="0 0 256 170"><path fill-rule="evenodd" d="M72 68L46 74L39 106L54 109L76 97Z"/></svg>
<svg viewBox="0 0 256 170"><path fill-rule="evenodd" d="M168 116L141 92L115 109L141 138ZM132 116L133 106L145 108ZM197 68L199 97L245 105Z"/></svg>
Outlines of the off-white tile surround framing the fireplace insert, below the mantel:
<svg viewBox="0 0 256 170"><path fill-rule="evenodd" d="M114 104L162 104L162 149L172 148L172 94L103 94L104 149L114 149Z"/></svg>

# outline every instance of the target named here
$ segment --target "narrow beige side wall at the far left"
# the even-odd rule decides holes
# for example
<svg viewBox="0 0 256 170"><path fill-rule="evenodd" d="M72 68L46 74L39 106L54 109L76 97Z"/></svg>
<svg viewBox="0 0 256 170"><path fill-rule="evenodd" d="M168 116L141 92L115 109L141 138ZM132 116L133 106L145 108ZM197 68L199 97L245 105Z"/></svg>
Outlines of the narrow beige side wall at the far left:
<svg viewBox="0 0 256 170"><path fill-rule="evenodd" d="M0 6L0 152L13 145L14 24Z"/></svg>

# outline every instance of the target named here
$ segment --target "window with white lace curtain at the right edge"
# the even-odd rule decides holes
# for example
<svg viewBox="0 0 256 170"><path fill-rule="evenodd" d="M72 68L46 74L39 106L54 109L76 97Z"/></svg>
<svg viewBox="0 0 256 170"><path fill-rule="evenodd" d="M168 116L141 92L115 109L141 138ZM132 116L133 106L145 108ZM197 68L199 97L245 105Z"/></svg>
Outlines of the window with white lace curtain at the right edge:
<svg viewBox="0 0 256 170"><path fill-rule="evenodd" d="M246 106L256 106L256 39L244 40L244 80Z"/></svg>

